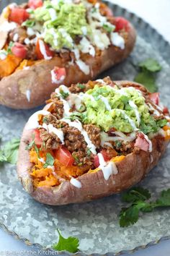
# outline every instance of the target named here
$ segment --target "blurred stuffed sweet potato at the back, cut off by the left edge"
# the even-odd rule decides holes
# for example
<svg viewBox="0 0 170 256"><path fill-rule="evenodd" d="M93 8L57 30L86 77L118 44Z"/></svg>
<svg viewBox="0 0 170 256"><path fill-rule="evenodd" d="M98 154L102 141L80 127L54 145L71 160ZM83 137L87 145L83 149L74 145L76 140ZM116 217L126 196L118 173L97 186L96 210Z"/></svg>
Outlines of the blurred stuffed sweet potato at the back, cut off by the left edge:
<svg viewBox="0 0 170 256"><path fill-rule="evenodd" d="M0 103L40 106L59 85L119 63L134 44L133 25L97 0L11 4L0 18Z"/></svg>

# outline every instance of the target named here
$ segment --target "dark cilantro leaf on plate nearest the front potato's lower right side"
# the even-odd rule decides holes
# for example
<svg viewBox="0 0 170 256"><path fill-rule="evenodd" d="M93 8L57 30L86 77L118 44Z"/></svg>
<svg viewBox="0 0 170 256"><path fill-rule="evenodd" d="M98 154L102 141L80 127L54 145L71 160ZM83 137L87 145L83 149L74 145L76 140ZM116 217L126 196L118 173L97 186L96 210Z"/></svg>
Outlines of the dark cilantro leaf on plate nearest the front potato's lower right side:
<svg viewBox="0 0 170 256"><path fill-rule="evenodd" d="M143 187L133 187L122 194L122 200L124 202L135 202L138 200L147 200L151 197L151 193L148 189L143 189Z"/></svg>

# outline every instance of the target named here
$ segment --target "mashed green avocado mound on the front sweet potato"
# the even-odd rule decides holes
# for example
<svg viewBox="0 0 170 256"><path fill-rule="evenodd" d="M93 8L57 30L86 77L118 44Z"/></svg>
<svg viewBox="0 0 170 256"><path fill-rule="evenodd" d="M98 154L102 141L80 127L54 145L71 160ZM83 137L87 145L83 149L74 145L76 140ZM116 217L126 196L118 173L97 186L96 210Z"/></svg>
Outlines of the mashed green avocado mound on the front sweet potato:
<svg viewBox="0 0 170 256"><path fill-rule="evenodd" d="M120 132L140 129L145 134L155 133L166 124L156 121L149 113L140 90L135 88L111 88L95 85L84 95L86 111L82 114L85 124L96 124L107 132L111 128Z"/></svg>

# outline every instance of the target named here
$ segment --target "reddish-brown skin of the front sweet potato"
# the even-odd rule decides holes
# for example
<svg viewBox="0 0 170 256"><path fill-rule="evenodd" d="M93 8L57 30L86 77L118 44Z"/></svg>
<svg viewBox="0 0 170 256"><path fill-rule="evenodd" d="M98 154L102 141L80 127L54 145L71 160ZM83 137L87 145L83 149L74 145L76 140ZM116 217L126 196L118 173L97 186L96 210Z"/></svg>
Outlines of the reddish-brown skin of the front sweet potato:
<svg viewBox="0 0 170 256"><path fill-rule="evenodd" d="M128 81L118 81L119 85L139 87L138 83ZM143 89L145 90L145 89ZM46 106L47 110L48 107ZM26 124L27 125L27 124ZM112 174L106 181L102 171L87 173L77 178L81 182L81 189L74 187L70 182L61 183L58 187L38 187L36 190L32 186L32 178L29 169L32 164L25 147L30 140L32 130L24 128L21 144L19 147L19 161L17 163L17 173L24 189L35 198L35 200L47 205L66 205L69 203L86 202L116 194L124 189L128 189L140 182L151 169L156 166L161 155L164 154L168 142L161 135L153 137L152 152L134 150L133 153L116 162L118 174Z"/></svg>

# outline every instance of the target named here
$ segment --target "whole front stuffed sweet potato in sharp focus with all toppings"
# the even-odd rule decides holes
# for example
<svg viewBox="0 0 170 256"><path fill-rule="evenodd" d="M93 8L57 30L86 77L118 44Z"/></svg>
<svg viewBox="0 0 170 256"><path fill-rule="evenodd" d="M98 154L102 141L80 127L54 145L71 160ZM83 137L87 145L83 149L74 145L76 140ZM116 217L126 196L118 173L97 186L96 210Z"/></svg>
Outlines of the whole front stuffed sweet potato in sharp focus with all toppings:
<svg viewBox="0 0 170 256"><path fill-rule="evenodd" d="M156 166L170 139L158 93L135 82L61 85L22 135L17 171L39 202L64 205L121 192Z"/></svg>

